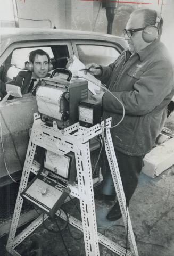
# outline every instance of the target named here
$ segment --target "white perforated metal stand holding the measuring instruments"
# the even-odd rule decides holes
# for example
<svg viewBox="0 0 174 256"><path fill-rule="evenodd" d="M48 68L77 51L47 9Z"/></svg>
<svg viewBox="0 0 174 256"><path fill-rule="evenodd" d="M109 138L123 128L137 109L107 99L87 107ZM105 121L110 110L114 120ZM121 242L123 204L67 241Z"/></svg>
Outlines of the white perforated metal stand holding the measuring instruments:
<svg viewBox="0 0 174 256"><path fill-rule="evenodd" d="M102 125L104 125L104 122L102 122ZM106 120L105 126L111 126L111 119ZM73 134L71 134L72 132ZM129 211L126 206L125 194L123 192L110 129L106 129L105 150L107 159L110 164L123 222L125 228L128 229L130 251L126 252L126 249L123 247L115 244L102 234L97 233L89 140L99 134L103 136L103 129L101 125L95 125L91 128L84 128L79 126L79 123L76 123L68 128L65 128L64 130L59 130L55 122L53 127L47 127L45 126L45 123L40 120L40 115L38 113L34 114L34 125L31 131L26 161L23 167L21 183L9 233L9 239L6 246L7 251L9 251L12 255L20 256L20 254L15 250L15 247L18 246L43 222L43 214L41 214L26 229L24 229L18 236L15 237L23 203L23 199L20 194L27 186L30 172L33 172L34 174L37 174L38 172L38 166L36 165L35 161L33 161L36 145L38 145L59 155L66 154L70 151L74 152L75 154L78 185L76 184L72 186L69 184L68 186L71 189L70 195L77 197L80 200L82 222L69 215L69 223L84 232L86 255L100 255L98 246L99 242L119 256L125 256L125 254L127 256L138 256L135 237L131 226ZM59 210L56 214L64 220L67 219L65 214L59 212ZM44 214L44 216L44 220L46 220L48 218L47 214Z"/></svg>

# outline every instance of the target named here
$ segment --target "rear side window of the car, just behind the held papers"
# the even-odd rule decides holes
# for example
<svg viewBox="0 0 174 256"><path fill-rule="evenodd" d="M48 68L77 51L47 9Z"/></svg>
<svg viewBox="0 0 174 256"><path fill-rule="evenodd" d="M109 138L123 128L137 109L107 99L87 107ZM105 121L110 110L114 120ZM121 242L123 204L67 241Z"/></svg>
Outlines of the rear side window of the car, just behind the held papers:
<svg viewBox="0 0 174 256"><path fill-rule="evenodd" d="M120 55L114 47L104 45L77 45L77 51L79 60L85 65L92 62L109 65Z"/></svg>

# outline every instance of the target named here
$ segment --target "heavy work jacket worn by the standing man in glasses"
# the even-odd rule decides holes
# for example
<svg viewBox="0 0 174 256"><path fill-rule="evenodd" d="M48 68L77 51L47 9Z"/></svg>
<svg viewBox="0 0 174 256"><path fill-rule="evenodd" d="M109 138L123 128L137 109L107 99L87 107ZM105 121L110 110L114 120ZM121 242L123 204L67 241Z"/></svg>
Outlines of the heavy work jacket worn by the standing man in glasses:
<svg viewBox="0 0 174 256"><path fill-rule="evenodd" d="M114 147L128 155L144 155L151 150L167 117L167 105L174 95L173 66L167 49L155 40L125 60L124 51L103 68L100 80L125 106L125 118L111 129ZM112 117L112 125L121 120L121 104L106 92L103 118Z"/></svg>

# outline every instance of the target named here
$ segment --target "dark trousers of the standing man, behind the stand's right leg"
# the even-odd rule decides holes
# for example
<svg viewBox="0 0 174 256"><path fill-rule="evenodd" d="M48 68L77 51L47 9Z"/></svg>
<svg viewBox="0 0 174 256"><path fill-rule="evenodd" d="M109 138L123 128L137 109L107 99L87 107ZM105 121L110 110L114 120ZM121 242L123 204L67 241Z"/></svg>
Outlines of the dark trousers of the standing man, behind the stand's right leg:
<svg viewBox="0 0 174 256"><path fill-rule="evenodd" d="M129 205L129 201L138 184L138 178L143 167L143 158L145 155L130 156L117 150L115 150L115 155L118 162L126 202L127 205ZM102 166L105 170L102 171L103 185L101 193L104 195L115 195L115 187L106 154L103 160L104 162L102 161Z"/></svg>

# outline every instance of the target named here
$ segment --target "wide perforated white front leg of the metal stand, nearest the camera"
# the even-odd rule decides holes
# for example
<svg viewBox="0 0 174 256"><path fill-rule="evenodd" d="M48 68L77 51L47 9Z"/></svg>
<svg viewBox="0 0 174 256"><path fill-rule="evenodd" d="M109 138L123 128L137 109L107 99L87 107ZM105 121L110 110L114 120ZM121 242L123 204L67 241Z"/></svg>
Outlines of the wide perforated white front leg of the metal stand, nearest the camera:
<svg viewBox="0 0 174 256"><path fill-rule="evenodd" d="M75 156L86 255L99 256L89 143L81 144Z"/></svg>

